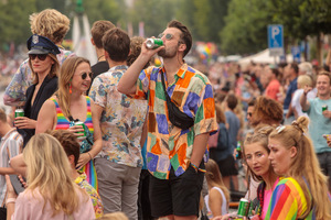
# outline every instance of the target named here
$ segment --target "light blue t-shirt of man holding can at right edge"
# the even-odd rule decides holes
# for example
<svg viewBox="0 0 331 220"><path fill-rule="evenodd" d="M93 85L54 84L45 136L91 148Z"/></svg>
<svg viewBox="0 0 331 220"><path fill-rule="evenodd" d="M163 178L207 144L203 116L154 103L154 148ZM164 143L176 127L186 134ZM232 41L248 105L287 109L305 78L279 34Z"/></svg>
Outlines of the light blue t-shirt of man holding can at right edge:
<svg viewBox="0 0 331 220"><path fill-rule="evenodd" d="M307 111L309 117L309 134L313 143L316 153L331 152L323 134L331 134L331 119L322 114L322 106L331 109L331 99L321 100L319 98L309 99L310 108Z"/></svg>

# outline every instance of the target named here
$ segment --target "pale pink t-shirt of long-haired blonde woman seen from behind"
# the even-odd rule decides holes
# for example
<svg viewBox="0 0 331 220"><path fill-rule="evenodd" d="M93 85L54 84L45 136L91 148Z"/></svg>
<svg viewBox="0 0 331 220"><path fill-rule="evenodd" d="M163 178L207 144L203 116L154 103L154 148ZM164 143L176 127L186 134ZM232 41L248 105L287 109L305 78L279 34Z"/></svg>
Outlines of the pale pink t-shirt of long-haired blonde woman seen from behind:
<svg viewBox="0 0 331 220"><path fill-rule="evenodd" d="M79 207L71 217L63 211L52 217L53 210L50 202L46 204L44 211L44 199L38 189L33 190L33 196L30 191L23 191L19 195L15 202L15 210L12 215L12 220L70 220L70 219L95 219L92 201L87 195L83 195L77 190L79 197Z"/></svg>

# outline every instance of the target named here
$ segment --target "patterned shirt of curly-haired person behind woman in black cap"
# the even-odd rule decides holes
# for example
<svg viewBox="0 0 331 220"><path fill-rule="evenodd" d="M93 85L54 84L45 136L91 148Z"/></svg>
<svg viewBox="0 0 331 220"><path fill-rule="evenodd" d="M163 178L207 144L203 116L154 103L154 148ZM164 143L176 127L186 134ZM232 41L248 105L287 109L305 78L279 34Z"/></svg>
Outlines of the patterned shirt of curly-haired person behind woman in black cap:
<svg viewBox="0 0 331 220"><path fill-rule="evenodd" d="M62 47L58 47L60 54L56 55L60 65L68 58L76 56L71 51L65 51ZM29 66L29 59L25 59L14 74L11 82L6 88L3 96L3 102L7 106L24 106L25 102L25 92L26 89L32 85L33 75Z"/></svg>

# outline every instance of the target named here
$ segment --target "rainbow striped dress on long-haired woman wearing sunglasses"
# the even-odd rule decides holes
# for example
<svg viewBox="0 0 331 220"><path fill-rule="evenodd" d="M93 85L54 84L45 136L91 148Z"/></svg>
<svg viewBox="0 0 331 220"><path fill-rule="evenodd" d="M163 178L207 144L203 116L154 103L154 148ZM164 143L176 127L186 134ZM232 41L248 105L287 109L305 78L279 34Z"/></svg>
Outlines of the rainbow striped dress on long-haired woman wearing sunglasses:
<svg viewBox="0 0 331 220"><path fill-rule="evenodd" d="M55 130L67 130L70 128L71 122L64 117L57 101L54 98L51 98L51 100L55 103L55 107L56 107L57 123L56 123ZM86 113L86 120L84 123L88 128L89 132L93 134L94 128L93 128L92 113L90 113L90 99L87 96L86 96L86 103L87 103L87 113ZM93 161L89 161L79 170L79 173L85 173L86 180L88 182L88 184L90 184L95 189L98 189L97 174L96 174Z"/></svg>

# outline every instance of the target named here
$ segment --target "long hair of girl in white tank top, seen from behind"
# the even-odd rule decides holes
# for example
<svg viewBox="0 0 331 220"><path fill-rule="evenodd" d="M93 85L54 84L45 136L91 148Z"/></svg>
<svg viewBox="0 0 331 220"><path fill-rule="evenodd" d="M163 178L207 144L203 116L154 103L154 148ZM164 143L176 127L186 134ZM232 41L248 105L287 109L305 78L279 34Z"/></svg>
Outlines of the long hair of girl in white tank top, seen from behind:
<svg viewBox="0 0 331 220"><path fill-rule="evenodd" d="M216 164L216 162L214 160L209 160L207 163L205 163L205 178L207 180L207 183L211 186L217 186L222 189L226 202L228 205L229 201L229 191L226 188L226 186L223 183L223 178L222 178L222 174L220 172L218 165Z"/></svg>

